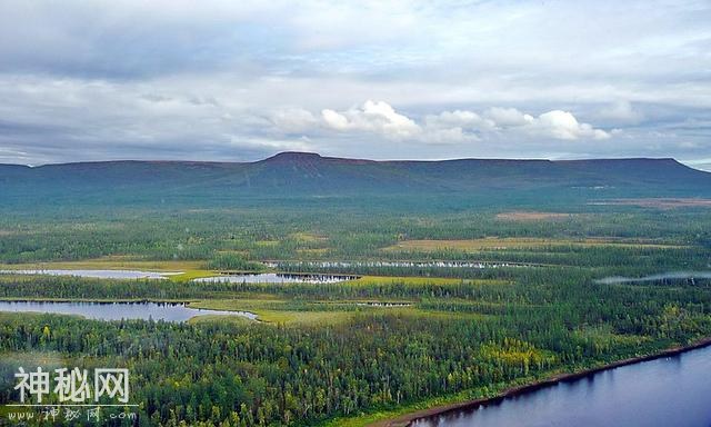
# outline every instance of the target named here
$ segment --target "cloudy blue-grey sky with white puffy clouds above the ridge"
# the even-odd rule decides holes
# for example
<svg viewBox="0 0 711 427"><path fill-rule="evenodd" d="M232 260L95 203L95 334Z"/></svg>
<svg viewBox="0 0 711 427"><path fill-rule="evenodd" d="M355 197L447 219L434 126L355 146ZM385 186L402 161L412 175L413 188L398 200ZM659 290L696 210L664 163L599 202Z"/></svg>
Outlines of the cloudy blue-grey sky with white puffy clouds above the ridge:
<svg viewBox="0 0 711 427"><path fill-rule="evenodd" d="M711 2L0 0L0 162L673 157Z"/></svg>

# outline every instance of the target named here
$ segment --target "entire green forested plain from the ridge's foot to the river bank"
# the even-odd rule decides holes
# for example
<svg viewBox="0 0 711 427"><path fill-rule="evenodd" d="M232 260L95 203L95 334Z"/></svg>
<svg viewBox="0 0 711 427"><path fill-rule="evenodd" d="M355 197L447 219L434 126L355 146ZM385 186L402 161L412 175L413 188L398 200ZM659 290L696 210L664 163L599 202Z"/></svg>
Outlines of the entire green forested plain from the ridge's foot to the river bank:
<svg viewBox="0 0 711 427"><path fill-rule="evenodd" d="M0 404L17 399L20 365L116 366L131 370L139 408L110 425L362 426L711 336L709 279L599 281L708 270L704 208L549 206L565 216L535 220L502 219L518 206L369 209L7 211L0 299L181 301L258 320L0 312ZM183 274L11 271L28 268ZM192 280L226 271L357 277Z"/></svg>

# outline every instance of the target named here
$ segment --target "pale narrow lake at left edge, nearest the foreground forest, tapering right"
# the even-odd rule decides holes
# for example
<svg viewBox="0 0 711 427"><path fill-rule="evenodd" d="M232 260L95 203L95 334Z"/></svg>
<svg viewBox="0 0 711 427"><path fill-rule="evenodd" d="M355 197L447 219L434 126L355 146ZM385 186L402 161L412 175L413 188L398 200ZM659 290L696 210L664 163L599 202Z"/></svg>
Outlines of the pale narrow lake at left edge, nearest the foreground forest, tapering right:
<svg viewBox="0 0 711 427"><path fill-rule="evenodd" d="M181 302L0 301L0 311L79 315L97 320L186 321L191 317L206 315L241 316L251 320L257 319L257 315L253 312L206 310L190 308Z"/></svg>

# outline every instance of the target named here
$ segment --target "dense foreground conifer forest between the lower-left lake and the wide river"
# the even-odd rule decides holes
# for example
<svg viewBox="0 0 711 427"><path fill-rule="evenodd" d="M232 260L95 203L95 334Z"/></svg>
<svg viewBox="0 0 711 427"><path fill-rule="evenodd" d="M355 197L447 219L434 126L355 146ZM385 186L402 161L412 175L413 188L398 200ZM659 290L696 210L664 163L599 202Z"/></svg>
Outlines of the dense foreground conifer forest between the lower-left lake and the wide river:
<svg viewBox="0 0 711 427"><path fill-rule="evenodd" d="M59 354L72 366L128 367L140 426L313 425L464 389L485 393L711 332L707 322L701 330L682 325L669 339L618 340L601 329L571 330L565 319L555 310L475 321L357 314L340 325L272 327L17 315L0 322L0 351L13 360ZM17 367L0 367L0 403L8 403Z"/></svg>

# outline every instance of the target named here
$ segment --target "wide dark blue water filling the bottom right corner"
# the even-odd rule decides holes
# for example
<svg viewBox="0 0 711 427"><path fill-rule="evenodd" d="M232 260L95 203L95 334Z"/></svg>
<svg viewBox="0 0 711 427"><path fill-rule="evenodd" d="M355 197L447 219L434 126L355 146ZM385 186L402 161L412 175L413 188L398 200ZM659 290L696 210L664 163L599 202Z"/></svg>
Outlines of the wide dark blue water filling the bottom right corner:
<svg viewBox="0 0 711 427"><path fill-rule="evenodd" d="M711 426L711 347L592 374L413 427Z"/></svg>

